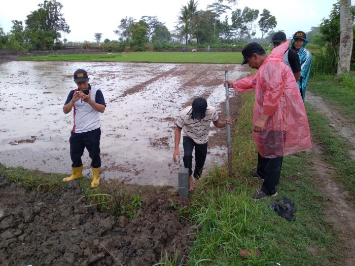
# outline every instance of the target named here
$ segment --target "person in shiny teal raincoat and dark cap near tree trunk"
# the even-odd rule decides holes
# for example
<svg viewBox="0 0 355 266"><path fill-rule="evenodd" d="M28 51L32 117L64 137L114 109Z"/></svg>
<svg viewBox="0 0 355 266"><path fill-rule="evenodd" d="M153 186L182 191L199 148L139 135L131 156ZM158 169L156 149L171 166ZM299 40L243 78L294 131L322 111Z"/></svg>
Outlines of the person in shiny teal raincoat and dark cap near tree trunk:
<svg viewBox="0 0 355 266"><path fill-rule="evenodd" d="M297 81L298 88L301 91L302 100L306 94L307 82L310 74L310 67L312 63L312 54L305 48L307 45L306 33L297 31L293 35L291 41L291 49L295 50L300 57L301 62L301 78Z"/></svg>

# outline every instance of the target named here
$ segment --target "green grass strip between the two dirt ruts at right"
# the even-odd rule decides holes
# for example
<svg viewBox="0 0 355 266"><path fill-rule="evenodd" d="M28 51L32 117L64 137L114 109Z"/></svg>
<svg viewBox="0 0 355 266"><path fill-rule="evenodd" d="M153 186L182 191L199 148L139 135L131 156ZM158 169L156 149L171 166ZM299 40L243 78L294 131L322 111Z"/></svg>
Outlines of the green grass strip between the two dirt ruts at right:
<svg viewBox="0 0 355 266"><path fill-rule="evenodd" d="M311 105L306 104L306 107L312 135L324 151L323 159L337 168L335 171L329 171L329 176L325 178L331 177L344 184L351 201L355 202L355 160L348 154L349 143L329 126L331 121L316 112Z"/></svg>

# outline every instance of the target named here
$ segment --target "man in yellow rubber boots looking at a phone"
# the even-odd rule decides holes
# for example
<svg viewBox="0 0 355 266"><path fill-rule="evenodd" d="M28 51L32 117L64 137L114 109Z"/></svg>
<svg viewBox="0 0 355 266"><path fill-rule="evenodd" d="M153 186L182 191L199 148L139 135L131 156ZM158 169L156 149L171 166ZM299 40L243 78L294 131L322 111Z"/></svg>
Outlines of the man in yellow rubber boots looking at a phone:
<svg viewBox="0 0 355 266"><path fill-rule="evenodd" d="M70 133L70 159L72 159L72 175L63 179L64 182L83 177L83 163L81 157L84 149L89 151L92 159L91 187L97 187L100 182L99 171L100 158L100 113L106 107L102 92L91 87L90 78L84 69L78 69L74 73L74 82L77 89L69 92L63 106L63 112L68 113L74 109L74 127Z"/></svg>

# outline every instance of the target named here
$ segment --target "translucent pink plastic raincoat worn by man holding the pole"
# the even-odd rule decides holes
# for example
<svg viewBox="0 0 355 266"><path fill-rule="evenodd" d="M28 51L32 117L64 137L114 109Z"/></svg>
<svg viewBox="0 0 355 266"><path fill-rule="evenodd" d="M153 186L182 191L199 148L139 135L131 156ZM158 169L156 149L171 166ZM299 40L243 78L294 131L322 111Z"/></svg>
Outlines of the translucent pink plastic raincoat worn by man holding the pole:
<svg viewBox="0 0 355 266"><path fill-rule="evenodd" d="M236 91L255 90L253 125L269 116L264 130L253 132L259 153L276 158L312 147L306 110L291 68L282 63L290 41L272 50L253 77L233 83Z"/></svg>

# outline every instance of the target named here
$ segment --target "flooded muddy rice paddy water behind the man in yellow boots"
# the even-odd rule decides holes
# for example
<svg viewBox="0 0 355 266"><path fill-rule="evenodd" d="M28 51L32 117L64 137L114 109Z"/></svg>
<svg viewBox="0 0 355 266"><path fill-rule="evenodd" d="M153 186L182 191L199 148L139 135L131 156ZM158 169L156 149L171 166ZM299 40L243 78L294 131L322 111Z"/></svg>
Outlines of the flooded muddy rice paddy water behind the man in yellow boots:
<svg viewBox="0 0 355 266"><path fill-rule="evenodd" d="M88 71L90 84L107 103L101 115L101 177L129 183L177 185L172 163L174 122L193 98L203 95L219 109L225 100L229 64L145 64L97 62L8 62L0 64L0 162L46 172L69 173L73 112L62 106L75 89L72 73ZM211 131L210 134L213 134ZM180 144L180 153L183 146ZM225 147L209 143L206 166L221 164ZM91 175L85 150L84 174Z"/></svg>

